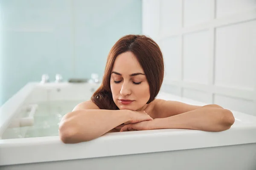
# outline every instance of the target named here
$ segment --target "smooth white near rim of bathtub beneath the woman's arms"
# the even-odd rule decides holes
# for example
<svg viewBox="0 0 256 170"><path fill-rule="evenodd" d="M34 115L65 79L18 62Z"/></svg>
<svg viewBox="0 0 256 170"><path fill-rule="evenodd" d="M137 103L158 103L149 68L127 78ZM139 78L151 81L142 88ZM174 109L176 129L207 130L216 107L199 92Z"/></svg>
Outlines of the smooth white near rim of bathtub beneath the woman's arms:
<svg viewBox="0 0 256 170"><path fill-rule="evenodd" d="M107 133L78 144L64 144L59 136L5 139L0 140L0 166L250 144L256 143L255 132L256 125L247 125L217 133L186 129Z"/></svg>

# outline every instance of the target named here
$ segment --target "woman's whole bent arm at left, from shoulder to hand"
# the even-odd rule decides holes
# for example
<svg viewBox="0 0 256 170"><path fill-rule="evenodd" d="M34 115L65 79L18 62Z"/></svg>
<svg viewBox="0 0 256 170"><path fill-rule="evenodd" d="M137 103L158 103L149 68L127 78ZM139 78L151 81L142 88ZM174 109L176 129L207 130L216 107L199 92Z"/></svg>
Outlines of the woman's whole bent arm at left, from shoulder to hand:
<svg viewBox="0 0 256 170"><path fill-rule="evenodd" d="M145 111L101 110L91 101L77 105L60 122L59 135L64 143L78 143L95 139L123 123L153 120ZM112 130L113 129L113 130Z"/></svg>

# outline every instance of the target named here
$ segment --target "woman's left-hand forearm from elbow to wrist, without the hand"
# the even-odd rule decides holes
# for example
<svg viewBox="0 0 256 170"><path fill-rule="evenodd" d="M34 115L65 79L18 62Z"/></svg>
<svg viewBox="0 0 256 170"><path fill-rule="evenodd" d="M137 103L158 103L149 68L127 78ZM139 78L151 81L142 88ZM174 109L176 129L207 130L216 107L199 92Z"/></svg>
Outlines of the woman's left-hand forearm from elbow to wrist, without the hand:
<svg viewBox="0 0 256 170"><path fill-rule="evenodd" d="M95 139L129 121L125 110L79 110L67 113L60 122L59 132L64 143Z"/></svg>

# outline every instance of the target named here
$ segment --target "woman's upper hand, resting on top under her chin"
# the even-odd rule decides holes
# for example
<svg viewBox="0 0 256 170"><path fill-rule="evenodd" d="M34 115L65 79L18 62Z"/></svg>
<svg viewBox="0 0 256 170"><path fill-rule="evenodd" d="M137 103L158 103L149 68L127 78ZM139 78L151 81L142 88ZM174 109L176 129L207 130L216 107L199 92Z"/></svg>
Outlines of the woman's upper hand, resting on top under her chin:
<svg viewBox="0 0 256 170"><path fill-rule="evenodd" d="M145 111L128 111L130 116L130 120L125 122L124 124L127 125L129 123L138 123L143 121L153 120Z"/></svg>

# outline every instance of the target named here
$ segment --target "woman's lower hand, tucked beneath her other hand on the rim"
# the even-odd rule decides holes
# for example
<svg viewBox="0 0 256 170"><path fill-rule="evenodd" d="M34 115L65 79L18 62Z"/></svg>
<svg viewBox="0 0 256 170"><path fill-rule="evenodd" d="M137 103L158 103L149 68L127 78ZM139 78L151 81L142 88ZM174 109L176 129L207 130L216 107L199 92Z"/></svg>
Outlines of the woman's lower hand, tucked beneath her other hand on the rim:
<svg viewBox="0 0 256 170"><path fill-rule="evenodd" d="M150 120L150 121L143 121L138 123L130 123L127 125L119 125L115 128L120 130L120 132L134 131L134 130L151 130L153 127L152 125L153 125L153 120Z"/></svg>

